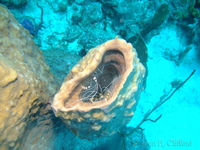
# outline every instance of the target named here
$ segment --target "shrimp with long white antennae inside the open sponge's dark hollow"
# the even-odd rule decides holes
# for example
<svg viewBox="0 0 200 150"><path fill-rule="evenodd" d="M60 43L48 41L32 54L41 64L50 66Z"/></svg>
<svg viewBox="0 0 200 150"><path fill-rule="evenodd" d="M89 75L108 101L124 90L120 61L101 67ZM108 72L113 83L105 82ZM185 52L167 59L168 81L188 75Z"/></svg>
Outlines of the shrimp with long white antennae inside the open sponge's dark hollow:
<svg viewBox="0 0 200 150"><path fill-rule="evenodd" d="M85 103L94 103L97 101L107 101L112 93L113 87L120 80L120 75L117 67L120 67L115 61L109 61L100 65L94 73L79 84L80 92L72 92L73 95L78 95L77 98L67 104L67 107L73 105L77 101Z"/></svg>

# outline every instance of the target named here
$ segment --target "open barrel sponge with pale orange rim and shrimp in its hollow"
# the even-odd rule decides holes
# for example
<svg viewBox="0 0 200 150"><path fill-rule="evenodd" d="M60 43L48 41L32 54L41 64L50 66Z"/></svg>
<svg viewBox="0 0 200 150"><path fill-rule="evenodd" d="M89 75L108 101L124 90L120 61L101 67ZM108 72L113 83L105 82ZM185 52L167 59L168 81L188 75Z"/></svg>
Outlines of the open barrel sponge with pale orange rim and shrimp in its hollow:
<svg viewBox="0 0 200 150"><path fill-rule="evenodd" d="M110 136L134 115L144 74L136 50L116 37L91 49L72 68L52 108L80 138Z"/></svg>

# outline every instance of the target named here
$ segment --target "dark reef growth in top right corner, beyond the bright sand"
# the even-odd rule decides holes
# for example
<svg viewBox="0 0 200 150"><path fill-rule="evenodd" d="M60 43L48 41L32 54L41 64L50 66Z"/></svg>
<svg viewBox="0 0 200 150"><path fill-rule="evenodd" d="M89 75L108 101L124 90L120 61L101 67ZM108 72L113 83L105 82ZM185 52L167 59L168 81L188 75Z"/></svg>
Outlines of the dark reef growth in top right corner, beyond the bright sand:
<svg viewBox="0 0 200 150"><path fill-rule="evenodd" d="M173 1L171 19L177 22L177 26L182 30L180 37L185 38L187 46L195 44L196 52L200 56L200 1L199 0L179 0ZM187 53L188 48L181 51L181 53ZM181 56L183 56L180 53ZM178 57L179 58L179 55ZM180 59L181 60L181 59ZM179 64L179 60L175 60L176 64ZM178 62L178 63L177 63Z"/></svg>

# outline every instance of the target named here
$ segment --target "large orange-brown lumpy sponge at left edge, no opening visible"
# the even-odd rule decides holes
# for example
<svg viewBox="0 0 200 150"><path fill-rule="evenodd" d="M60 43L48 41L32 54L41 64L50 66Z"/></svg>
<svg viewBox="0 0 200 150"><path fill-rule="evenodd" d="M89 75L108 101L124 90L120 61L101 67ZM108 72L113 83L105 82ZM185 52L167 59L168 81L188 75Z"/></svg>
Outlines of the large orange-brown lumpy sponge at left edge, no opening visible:
<svg viewBox="0 0 200 150"><path fill-rule="evenodd" d="M0 149L17 149L39 105L56 91L29 32L0 4Z"/></svg>

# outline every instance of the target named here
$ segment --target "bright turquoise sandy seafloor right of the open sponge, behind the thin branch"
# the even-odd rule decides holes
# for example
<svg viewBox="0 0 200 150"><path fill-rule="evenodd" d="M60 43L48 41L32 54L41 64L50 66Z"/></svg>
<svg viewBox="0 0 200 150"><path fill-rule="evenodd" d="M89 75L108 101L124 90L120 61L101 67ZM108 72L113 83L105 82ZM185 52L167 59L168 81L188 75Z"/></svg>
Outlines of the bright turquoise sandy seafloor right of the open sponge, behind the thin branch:
<svg viewBox="0 0 200 150"><path fill-rule="evenodd" d="M174 79L186 79L196 69L195 74L166 103L149 118L162 117L157 122L147 121L141 126L152 150L198 150L200 149L200 60L193 47L179 66L165 59L161 53L166 47L179 49L180 37L175 26L161 30L147 43L148 68L147 86L141 94L135 115L128 126L135 127L144 114L160 97L169 91ZM185 146L188 145L188 146Z"/></svg>

